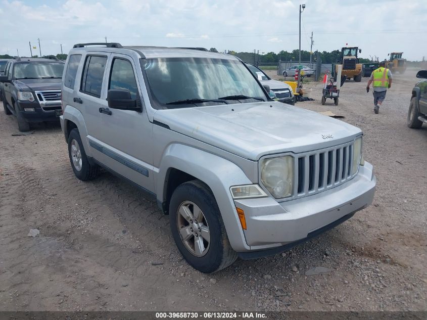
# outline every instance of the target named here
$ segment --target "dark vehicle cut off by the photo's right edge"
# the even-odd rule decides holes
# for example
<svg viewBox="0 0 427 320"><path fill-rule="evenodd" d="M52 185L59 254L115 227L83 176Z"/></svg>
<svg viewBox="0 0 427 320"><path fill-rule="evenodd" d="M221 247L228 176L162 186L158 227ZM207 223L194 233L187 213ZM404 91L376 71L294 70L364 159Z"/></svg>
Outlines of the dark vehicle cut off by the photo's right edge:
<svg viewBox="0 0 427 320"><path fill-rule="evenodd" d="M420 128L422 123L427 124L427 70L418 71L416 77L422 80L412 89L407 118L407 125L410 128Z"/></svg>

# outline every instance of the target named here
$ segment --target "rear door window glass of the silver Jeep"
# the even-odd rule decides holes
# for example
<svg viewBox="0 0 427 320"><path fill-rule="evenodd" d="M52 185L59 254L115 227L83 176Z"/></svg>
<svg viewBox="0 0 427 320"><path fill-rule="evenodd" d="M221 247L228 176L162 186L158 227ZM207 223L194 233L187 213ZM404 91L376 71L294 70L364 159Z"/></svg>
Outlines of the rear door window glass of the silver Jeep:
<svg viewBox="0 0 427 320"><path fill-rule="evenodd" d="M101 97L102 80L106 63L107 57L86 57L80 86L82 92L94 97Z"/></svg>

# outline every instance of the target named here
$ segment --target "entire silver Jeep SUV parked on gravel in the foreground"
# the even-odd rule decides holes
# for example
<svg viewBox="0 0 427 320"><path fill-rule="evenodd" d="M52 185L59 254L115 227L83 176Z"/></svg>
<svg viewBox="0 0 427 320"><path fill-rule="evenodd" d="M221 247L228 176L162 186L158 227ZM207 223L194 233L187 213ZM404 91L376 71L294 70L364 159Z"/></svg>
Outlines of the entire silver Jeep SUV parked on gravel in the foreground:
<svg viewBox="0 0 427 320"><path fill-rule="evenodd" d="M359 128L268 92L234 56L76 44L60 117L72 169L154 194L203 272L287 250L368 206L376 178Z"/></svg>

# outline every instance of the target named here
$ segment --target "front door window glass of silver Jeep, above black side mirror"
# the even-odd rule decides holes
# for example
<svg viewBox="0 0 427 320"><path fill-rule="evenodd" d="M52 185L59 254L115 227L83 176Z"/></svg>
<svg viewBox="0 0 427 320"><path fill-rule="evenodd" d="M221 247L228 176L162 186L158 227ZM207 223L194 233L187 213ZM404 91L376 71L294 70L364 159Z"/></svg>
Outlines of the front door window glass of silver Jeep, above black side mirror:
<svg viewBox="0 0 427 320"><path fill-rule="evenodd" d="M123 59L113 60L108 88L127 89L130 92L130 97L136 99L138 87L136 85L132 64L129 61Z"/></svg>

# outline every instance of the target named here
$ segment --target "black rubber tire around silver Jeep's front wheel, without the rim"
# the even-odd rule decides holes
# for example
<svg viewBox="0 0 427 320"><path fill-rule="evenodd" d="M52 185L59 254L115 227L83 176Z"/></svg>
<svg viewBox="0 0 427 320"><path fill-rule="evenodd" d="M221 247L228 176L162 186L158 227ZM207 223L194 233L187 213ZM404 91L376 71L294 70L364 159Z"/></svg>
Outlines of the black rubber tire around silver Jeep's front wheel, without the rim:
<svg viewBox="0 0 427 320"><path fill-rule="evenodd" d="M197 256L189 251L179 233L178 222L181 219L181 214L178 213L178 210L187 201L200 208L208 226L210 242L206 248L207 252L203 256ZM194 268L205 273L211 273L229 266L236 260L237 254L228 241L215 197L202 181L188 181L175 189L169 204L169 218L175 244L184 259ZM193 237L191 239L196 239L195 236L191 237Z"/></svg>

